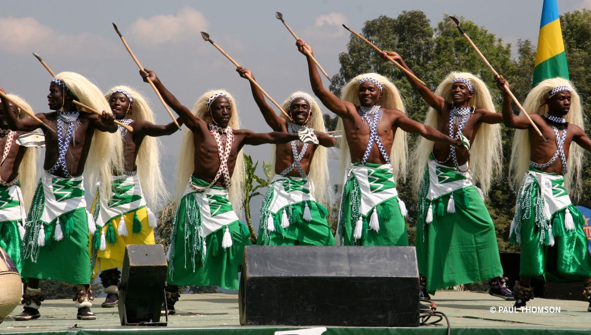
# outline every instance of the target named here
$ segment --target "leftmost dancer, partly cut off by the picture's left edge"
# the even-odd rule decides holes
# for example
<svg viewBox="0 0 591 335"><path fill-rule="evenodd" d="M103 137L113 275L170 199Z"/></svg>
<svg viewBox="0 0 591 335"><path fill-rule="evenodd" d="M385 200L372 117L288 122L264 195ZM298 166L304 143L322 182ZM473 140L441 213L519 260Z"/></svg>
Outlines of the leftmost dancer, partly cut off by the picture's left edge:
<svg viewBox="0 0 591 335"><path fill-rule="evenodd" d="M0 90L5 93L2 88ZM33 110L23 98L14 94L8 94L8 97ZM21 241L25 235L27 209L35 192L38 150L20 145L18 137L27 133L8 129L6 113L14 113L18 118L28 115L8 101L2 100L0 104L0 147L3 148L0 160L0 248L7 252L20 273Z"/></svg>

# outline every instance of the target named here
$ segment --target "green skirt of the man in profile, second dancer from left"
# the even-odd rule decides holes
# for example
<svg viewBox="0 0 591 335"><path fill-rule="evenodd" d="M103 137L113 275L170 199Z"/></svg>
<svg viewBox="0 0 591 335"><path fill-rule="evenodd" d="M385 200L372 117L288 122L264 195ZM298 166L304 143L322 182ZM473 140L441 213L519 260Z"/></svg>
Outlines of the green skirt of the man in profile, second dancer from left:
<svg viewBox="0 0 591 335"><path fill-rule="evenodd" d="M54 241L53 233L59 220L61 226L66 226L66 221L72 216L74 229L61 241ZM46 232L45 246L39 249L37 261L27 257L22 261L21 276L24 278L40 278L65 281L71 284L90 283L90 254L88 216L85 208L63 214L51 224L44 225ZM35 229L33 224L25 226L25 229Z"/></svg>

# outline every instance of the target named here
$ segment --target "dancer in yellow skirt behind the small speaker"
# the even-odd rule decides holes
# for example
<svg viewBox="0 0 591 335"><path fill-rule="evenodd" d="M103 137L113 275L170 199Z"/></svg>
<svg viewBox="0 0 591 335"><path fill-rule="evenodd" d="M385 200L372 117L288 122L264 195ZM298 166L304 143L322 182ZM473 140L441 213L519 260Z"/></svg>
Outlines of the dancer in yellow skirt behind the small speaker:
<svg viewBox="0 0 591 335"><path fill-rule="evenodd" d="M174 122L154 124L154 113L145 98L126 86L111 88L105 95L117 120L131 126L128 132L119 126L124 155L124 170L113 176L112 196L107 201L96 192L90 212L97 229L91 237L93 276L100 270L100 280L107 294L101 307L115 307L119 300L117 284L121 278L125 246L154 244L156 217L150 208L161 205L166 194L160 172L160 143L154 137L173 134ZM177 119L182 124L180 118Z"/></svg>

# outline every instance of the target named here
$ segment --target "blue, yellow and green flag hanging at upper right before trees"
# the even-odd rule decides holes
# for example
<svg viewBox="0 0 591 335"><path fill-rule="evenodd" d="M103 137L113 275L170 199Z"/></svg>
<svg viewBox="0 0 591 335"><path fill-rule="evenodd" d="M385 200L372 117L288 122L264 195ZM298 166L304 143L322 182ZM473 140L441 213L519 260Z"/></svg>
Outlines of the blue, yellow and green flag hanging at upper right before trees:
<svg viewBox="0 0 591 335"><path fill-rule="evenodd" d="M562 41L556 1L544 0L532 87L549 78L569 79L569 67L566 64L566 54L564 54L564 42Z"/></svg>

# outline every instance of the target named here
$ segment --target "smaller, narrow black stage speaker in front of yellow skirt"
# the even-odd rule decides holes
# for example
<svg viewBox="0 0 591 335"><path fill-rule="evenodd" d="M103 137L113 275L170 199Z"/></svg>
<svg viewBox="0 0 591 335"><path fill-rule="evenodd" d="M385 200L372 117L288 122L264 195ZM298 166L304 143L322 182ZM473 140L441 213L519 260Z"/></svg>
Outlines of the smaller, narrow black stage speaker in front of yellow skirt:
<svg viewBox="0 0 591 335"><path fill-rule="evenodd" d="M119 284L121 326L166 326L160 322L168 264L161 244L125 248Z"/></svg>

